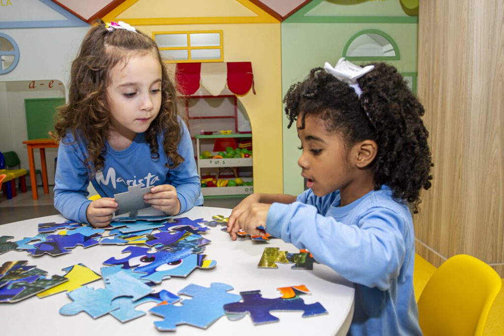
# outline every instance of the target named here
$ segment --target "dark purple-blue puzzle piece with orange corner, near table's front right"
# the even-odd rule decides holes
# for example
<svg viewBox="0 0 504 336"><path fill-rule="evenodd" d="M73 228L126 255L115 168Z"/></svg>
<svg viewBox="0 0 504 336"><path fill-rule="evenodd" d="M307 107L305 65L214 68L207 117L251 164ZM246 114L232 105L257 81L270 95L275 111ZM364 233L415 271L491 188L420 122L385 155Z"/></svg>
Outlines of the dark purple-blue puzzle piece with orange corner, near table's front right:
<svg viewBox="0 0 504 336"><path fill-rule="evenodd" d="M303 291L296 288L301 288ZM281 291L282 295L285 295L285 288L282 288ZM254 324L279 321L278 317L270 314L270 311L274 310L302 310L303 317L327 313L327 310L322 306L322 304L320 304L320 302L305 304L303 299L299 297L301 294L310 294L304 285L293 286L292 291L295 293L295 296L291 299L284 299L283 297L266 299L262 297L261 291L240 292L243 302L225 304L224 310L226 314L233 314L234 317L239 316L239 314L244 316L245 313L249 313Z"/></svg>

